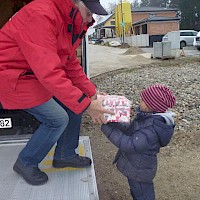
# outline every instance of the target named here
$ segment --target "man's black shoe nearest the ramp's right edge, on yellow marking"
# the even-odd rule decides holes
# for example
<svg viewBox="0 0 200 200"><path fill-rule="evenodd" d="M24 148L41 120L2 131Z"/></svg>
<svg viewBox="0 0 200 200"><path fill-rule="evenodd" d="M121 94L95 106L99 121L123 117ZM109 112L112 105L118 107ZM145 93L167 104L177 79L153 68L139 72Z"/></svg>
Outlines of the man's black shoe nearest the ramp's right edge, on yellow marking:
<svg viewBox="0 0 200 200"><path fill-rule="evenodd" d="M53 160L53 167L55 168L64 168L64 167L74 167L74 168L84 168L89 167L92 161L88 157L75 156L69 160Z"/></svg>

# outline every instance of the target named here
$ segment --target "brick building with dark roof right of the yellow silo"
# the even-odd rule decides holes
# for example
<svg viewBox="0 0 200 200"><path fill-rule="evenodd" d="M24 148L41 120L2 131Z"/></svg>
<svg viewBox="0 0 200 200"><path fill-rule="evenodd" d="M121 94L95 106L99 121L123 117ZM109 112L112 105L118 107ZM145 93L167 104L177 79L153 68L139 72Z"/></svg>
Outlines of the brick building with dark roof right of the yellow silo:
<svg viewBox="0 0 200 200"><path fill-rule="evenodd" d="M132 9L133 34L148 34L150 45L161 41L163 35L180 29L176 8L141 7Z"/></svg>

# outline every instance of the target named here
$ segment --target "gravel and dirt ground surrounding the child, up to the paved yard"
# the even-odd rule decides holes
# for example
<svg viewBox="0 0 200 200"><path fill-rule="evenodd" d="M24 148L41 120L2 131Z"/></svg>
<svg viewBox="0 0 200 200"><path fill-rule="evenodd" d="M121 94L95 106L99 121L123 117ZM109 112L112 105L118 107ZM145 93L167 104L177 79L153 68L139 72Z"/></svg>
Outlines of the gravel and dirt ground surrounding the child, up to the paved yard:
<svg viewBox="0 0 200 200"><path fill-rule="evenodd" d="M126 96L133 101L133 107L138 105L139 92L150 84L162 83L174 91L176 129L170 145L158 155L156 199L199 200L200 58L166 60L115 70L93 77L92 81L100 91ZM112 165L117 149L99 128L84 116L81 131L91 139L100 200L129 200L126 178Z"/></svg>

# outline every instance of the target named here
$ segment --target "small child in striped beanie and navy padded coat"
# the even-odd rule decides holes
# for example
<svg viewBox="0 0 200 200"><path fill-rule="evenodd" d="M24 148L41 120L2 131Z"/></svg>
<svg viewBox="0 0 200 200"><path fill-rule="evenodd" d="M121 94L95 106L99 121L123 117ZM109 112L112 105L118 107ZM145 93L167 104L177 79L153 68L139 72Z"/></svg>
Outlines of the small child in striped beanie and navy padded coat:
<svg viewBox="0 0 200 200"><path fill-rule="evenodd" d="M134 200L155 200L153 179L157 153L169 144L174 132L175 113L167 111L176 98L164 85L152 85L140 93L140 106L131 124L108 123L101 127L119 148L113 163L128 178Z"/></svg>

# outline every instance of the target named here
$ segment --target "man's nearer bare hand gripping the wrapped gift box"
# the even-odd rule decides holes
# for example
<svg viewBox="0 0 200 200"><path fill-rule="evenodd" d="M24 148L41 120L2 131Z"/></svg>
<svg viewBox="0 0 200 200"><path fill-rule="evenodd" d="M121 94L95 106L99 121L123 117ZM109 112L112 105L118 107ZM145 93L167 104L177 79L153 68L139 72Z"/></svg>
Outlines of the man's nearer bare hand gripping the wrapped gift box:
<svg viewBox="0 0 200 200"><path fill-rule="evenodd" d="M113 111L109 111L105 109L102 106L102 101L103 101L102 98L92 100L91 104L89 105L87 109L87 113L90 115L93 122L99 123L99 124L106 124L107 121L104 118L104 113L108 113L111 115L114 115L115 113Z"/></svg>

